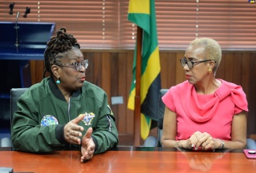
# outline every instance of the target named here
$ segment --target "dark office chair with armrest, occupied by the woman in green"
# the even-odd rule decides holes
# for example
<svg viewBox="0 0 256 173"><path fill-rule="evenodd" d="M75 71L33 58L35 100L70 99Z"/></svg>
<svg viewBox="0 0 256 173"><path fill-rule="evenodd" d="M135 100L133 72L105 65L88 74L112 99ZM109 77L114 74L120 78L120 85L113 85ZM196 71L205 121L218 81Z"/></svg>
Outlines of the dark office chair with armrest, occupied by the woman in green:
<svg viewBox="0 0 256 173"><path fill-rule="evenodd" d="M24 92L28 90L28 88L12 88L10 90L10 124L13 121L13 114L17 110L17 100L20 98ZM12 141L10 138L2 138L1 147L11 147L12 146Z"/></svg>

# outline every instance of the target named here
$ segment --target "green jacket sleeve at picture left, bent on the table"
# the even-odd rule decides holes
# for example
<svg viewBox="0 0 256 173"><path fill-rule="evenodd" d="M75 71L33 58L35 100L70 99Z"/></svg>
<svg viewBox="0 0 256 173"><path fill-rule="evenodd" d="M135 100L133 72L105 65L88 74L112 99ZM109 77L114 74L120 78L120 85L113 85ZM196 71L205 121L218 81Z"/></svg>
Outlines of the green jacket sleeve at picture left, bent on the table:
<svg viewBox="0 0 256 173"><path fill-rule="evenodd" d="M19 98L17 112L13 115L11 138L18 151L45 153L60 150L65 144L58 142L55 128L58 124L41 126L39 112L32 98Z"/></svg>

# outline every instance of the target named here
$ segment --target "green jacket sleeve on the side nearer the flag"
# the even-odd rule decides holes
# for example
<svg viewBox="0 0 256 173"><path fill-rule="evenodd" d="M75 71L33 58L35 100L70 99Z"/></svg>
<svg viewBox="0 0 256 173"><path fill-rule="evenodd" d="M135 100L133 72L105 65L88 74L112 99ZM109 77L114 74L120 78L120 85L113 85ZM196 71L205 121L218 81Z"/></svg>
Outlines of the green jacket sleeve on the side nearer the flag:
<svg viewBox="0 0 256 173"><path fill-rule="evenodd" d="M112 149L118 144L118 132L115 124L115 117L108 105L106 94L104 94L99 114L100 117L92 133L92 137L97 141L95 154Z"/></svg>

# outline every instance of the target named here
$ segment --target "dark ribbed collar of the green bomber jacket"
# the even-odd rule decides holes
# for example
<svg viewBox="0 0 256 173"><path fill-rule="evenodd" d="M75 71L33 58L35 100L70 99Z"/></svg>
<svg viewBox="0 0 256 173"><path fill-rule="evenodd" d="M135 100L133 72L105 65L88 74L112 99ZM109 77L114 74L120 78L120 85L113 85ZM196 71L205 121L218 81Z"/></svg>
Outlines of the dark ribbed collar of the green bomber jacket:
<svg viewBox="0 0 256 173"><path fill-rule="evenodd" d="M56 98L61 99L62 101L66 101L64 95L61 93L61 90L58 88L57 84L55 83L54 79L50 77L49 80L49 87L51 92L54 94ZM82 89L80 88L79 90L76 90L72 93L71 98L76 98L78 97L82 92Z"/></svg>

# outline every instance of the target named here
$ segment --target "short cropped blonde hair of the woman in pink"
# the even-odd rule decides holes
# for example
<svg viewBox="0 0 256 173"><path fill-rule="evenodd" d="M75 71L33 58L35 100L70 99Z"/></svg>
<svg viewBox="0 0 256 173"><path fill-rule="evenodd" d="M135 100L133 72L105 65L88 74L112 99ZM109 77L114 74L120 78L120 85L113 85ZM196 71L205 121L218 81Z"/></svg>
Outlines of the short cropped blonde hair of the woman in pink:
<svg viewBox="0 0 256 173"><path fill-rule="evenodd" d="M208 60L214 60L215 66L213 68L213 72L217 71L217 68L221 64L221 46L217 41L210 38L200 38L200 39L194 39L189 46L203 46L204 47L204 58Z"/></svg>

